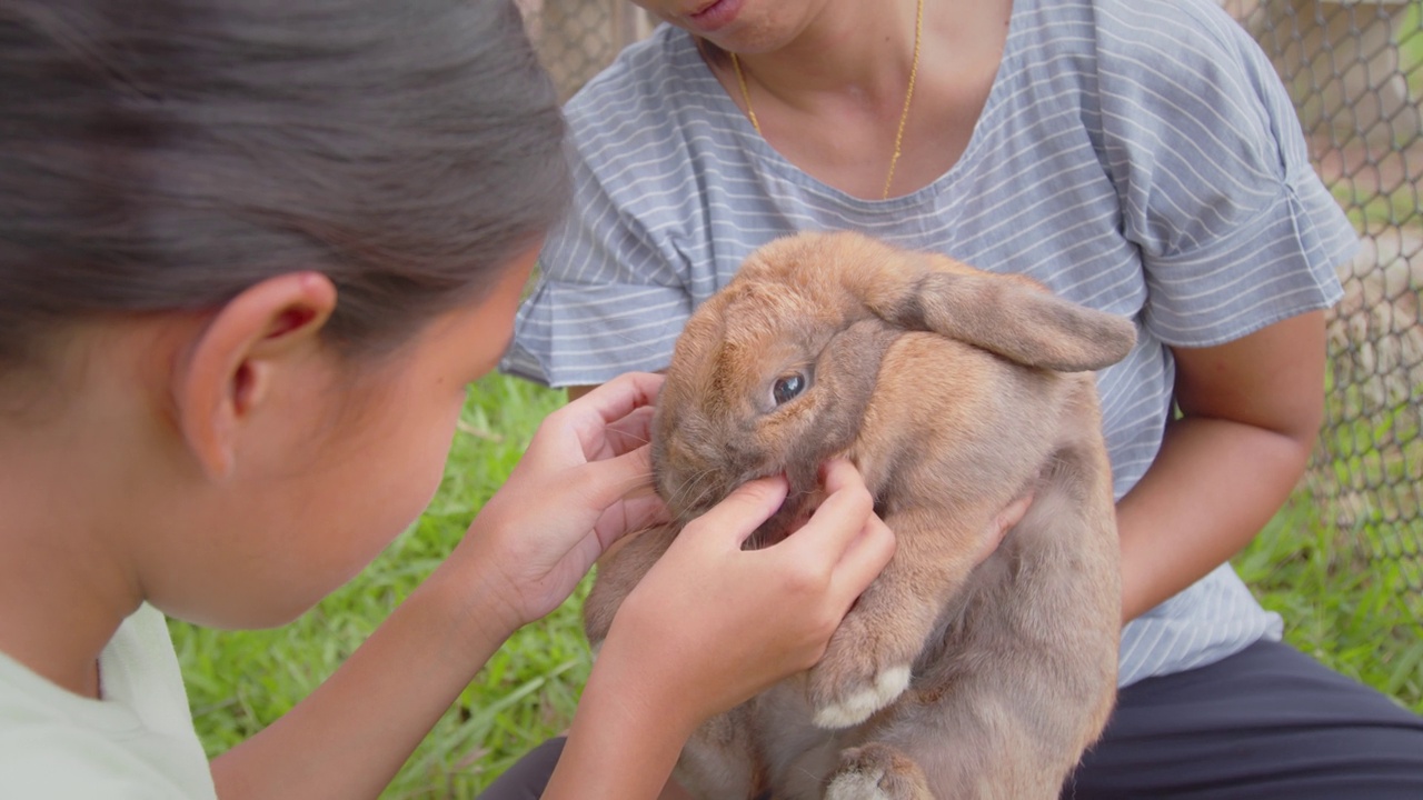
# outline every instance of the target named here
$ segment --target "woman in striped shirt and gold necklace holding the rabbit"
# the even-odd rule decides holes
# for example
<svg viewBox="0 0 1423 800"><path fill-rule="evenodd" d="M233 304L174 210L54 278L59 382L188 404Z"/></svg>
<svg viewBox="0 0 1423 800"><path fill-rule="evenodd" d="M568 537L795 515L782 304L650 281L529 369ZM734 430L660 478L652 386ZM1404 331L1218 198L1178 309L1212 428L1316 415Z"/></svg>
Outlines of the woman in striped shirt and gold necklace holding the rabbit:
<svg viewBox="0 0 1423 800"><path fill-rule="evenodd" d="M1282 645L1228 564L1305 470L1356 246L1245 31L1212 0L635 1L667 24L565 107L573 206L502 367L575 397L663 369L807 229L1130 317L1099 373L1121 690L1063 796L1423 796L1423 720Z"/></svg>

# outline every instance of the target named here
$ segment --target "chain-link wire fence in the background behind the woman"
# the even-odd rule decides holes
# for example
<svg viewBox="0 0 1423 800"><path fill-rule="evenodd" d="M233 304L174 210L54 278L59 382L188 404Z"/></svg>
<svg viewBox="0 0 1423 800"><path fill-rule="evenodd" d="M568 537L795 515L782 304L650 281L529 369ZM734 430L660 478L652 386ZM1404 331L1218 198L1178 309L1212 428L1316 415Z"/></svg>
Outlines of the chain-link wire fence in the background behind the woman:
<svg viewBox="0 0 1423 800"><path fill-rule="evenodd" d="M1289 87L1315 167L1359 229L1329 317L1329 410L1308 488L1423 621L1423 0L1221 0ZM628 0L527 0L571 95L647 19Z"/></svg>

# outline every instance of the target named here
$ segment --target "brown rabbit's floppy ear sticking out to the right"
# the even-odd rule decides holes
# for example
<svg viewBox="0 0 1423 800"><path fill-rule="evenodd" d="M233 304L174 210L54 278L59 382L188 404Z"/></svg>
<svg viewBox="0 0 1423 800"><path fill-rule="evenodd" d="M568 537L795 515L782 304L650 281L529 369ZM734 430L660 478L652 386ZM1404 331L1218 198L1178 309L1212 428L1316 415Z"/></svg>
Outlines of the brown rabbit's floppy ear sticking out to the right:
<svg viewBox="0 0 1423 800"><path fill-rule="evenodd" d="M995 275L946 256L905 253L869 309L881 319L966 342L1030 367L1099 370L1131 352L1131 320L1064 300L1020 275ZM908 269L904 269L909 266Z"/></svg>

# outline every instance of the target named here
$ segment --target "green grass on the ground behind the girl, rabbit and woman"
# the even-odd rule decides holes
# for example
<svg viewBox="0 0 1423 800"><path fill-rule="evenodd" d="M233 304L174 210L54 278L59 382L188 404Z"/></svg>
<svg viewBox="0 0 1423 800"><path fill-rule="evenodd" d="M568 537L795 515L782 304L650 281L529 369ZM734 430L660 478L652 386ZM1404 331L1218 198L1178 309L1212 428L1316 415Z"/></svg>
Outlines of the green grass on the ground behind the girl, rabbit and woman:
<svg viewBox="0 0 1423 800"><path fill-rule="evenodd" d="M174 622L198 732L216 754L305 698L464 534L562 393L490 377L470 394L430 510L360 577L275 631L216 632ZM1358 561L1301 500L1237 559L1288 639L1423 713L1423 631L1400 614L1387 575ZM521 631L416 752L387 799L472 797L572 719L589 658L575 596Z"/></svg>

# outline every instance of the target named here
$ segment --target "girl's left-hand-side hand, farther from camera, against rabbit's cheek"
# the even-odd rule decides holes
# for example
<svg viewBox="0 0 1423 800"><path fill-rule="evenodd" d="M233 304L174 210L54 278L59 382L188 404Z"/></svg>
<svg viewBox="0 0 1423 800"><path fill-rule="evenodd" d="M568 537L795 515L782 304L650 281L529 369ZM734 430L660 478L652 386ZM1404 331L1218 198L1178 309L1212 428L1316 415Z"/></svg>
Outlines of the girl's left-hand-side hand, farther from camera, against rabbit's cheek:
<svg viewBox="0 0 1423 800"><path fill-rule="evenodd" d="M495 581L509 629L558 608L629 531L662 522L649 424L662 376L629 373L549 414L451 555Z"/></svg>

